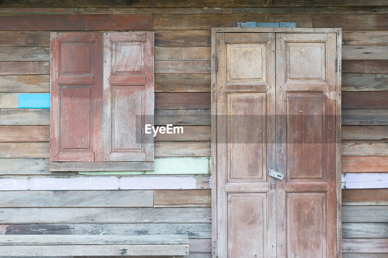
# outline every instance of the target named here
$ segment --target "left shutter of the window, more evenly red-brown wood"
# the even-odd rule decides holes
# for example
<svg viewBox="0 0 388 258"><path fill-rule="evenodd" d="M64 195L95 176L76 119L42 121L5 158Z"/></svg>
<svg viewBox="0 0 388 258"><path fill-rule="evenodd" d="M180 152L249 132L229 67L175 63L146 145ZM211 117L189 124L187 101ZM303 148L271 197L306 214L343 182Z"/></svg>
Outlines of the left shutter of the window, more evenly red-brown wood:
<svg viewBox="0 0 388 258"><path fill-rule="evenodd" d="M102 33L51 33L50 161L102 161Z"/></svg>

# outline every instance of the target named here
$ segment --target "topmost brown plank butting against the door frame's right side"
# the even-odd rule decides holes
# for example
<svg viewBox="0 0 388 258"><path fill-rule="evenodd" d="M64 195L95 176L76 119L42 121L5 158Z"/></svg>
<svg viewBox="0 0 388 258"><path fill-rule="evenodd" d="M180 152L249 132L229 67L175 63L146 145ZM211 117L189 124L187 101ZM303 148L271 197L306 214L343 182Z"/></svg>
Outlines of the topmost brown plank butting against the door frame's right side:
<svg viewBox="0 0 388 258"><path fill-rule="evenodd" d="M388 31L342 31L342 45L387 44Z"/></svg>

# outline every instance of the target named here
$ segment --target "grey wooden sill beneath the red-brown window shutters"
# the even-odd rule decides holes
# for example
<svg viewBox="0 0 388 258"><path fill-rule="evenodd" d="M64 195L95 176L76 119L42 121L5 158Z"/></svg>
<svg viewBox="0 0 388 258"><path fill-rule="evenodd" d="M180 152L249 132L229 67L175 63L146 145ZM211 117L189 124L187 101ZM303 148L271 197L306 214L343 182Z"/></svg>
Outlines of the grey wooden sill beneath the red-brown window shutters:
<svg viewBox="0 0 388 258"><path fill-rule="evenodd" d="M153 161L141 162L50 162L50 171L131 171L154 170Z"/></svg>

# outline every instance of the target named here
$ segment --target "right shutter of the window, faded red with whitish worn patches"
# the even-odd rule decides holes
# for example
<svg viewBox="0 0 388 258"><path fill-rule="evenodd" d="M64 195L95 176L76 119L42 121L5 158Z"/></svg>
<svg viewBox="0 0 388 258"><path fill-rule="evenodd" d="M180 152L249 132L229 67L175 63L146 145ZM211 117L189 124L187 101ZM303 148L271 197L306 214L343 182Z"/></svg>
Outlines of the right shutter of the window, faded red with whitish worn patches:
<svg viewBox="0 0 388 258"><path fill-rule="evenodd" d="M154 34L104 33L104 161L153 161Z"/></svg>

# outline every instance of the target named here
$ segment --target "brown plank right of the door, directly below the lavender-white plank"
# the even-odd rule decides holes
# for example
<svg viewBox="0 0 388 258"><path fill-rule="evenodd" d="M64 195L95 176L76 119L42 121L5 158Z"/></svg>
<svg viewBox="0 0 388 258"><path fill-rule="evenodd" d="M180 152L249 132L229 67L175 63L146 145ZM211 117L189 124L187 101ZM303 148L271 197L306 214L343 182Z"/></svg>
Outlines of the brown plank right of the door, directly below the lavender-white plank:
<svg viewBox="0 0 388 258"><path fill-rule="evenodd" d="M388 191L376 189L342 189L342 205L388 205Z"/></svg>

